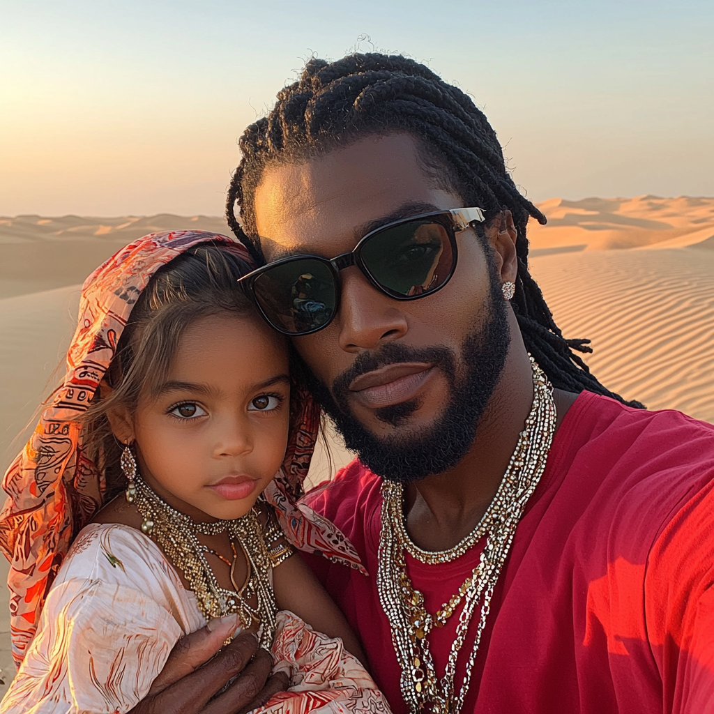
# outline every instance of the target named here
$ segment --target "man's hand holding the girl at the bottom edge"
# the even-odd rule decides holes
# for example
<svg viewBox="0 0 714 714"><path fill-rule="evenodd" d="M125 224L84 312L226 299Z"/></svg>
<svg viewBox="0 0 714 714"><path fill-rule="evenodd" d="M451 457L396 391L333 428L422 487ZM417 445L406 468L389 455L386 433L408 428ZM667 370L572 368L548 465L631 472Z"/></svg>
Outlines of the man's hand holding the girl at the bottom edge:
<svg viewBox="0 0 714 714"><path fill-rule="evenodd" d="M218 652L237 626L238 615L227 615L178 640L146 699L129 714L238 714L285 690L287 676L270 676L271 655L258 650L252 633L236 635ZM234 677L231 686L211 701Z"/></svg>

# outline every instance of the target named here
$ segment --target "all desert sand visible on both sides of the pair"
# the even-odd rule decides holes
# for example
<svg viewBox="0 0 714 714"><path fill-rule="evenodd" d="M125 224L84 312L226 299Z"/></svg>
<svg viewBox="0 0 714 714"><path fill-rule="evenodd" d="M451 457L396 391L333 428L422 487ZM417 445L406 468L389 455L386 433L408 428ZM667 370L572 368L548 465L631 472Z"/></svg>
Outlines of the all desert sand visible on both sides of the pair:
<svg viewBox="0 0 714 714"><path fill-rule="evenodd" d="M549 221L529 225L531 270L565 336L592 340L593 373L648 408L714 422L714 198L553 198L540 208ZM84 277L134 238L188 227L228 231L206 216L0 218L1 471L54 383ZM331 443L338 468L351 456ZM330 473L321 451L311 480ZM4 580L4 558L0 569ZM11 673L4 588L0 598L0 667Z"/></svg>

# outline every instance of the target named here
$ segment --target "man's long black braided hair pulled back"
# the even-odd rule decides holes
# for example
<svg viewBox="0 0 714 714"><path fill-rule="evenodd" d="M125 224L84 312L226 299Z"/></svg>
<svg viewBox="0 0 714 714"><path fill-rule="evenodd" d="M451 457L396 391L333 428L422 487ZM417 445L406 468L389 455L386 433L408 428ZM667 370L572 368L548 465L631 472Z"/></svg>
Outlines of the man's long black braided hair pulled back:
<svg viewBox="0 0 714 714"><path fill-rule="evenodd" d="M370 53L331 63L311 59L300 79L277 98L270 114L241 136L243 158L226 201L228 225L256 260L264 258L253 200L268 166L324 154L364 136L410 134L429 174L456 190L466 206L481 206L491 220L504 209L511 211L518 231L518 276L511 304L526 348L553 386L575 393L587 389L625 401L600 384L575 354L592 352L590 340L563 337L528 272L528 218L539 223L546 219L516 188L496 132L470 97L412 59Z"/></svg>

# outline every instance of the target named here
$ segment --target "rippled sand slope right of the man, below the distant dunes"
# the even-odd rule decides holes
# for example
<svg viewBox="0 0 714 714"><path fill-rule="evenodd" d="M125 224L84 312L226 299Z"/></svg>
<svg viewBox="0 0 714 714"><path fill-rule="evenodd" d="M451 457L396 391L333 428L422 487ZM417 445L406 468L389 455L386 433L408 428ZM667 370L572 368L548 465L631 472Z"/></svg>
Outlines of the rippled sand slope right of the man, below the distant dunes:
<svg viewBox="0 0 714 714"><path fill-rule="evenodd" d="M714 422L714 251L570 253L531 270L563 334L593 341L601 383Z"/></svg>

